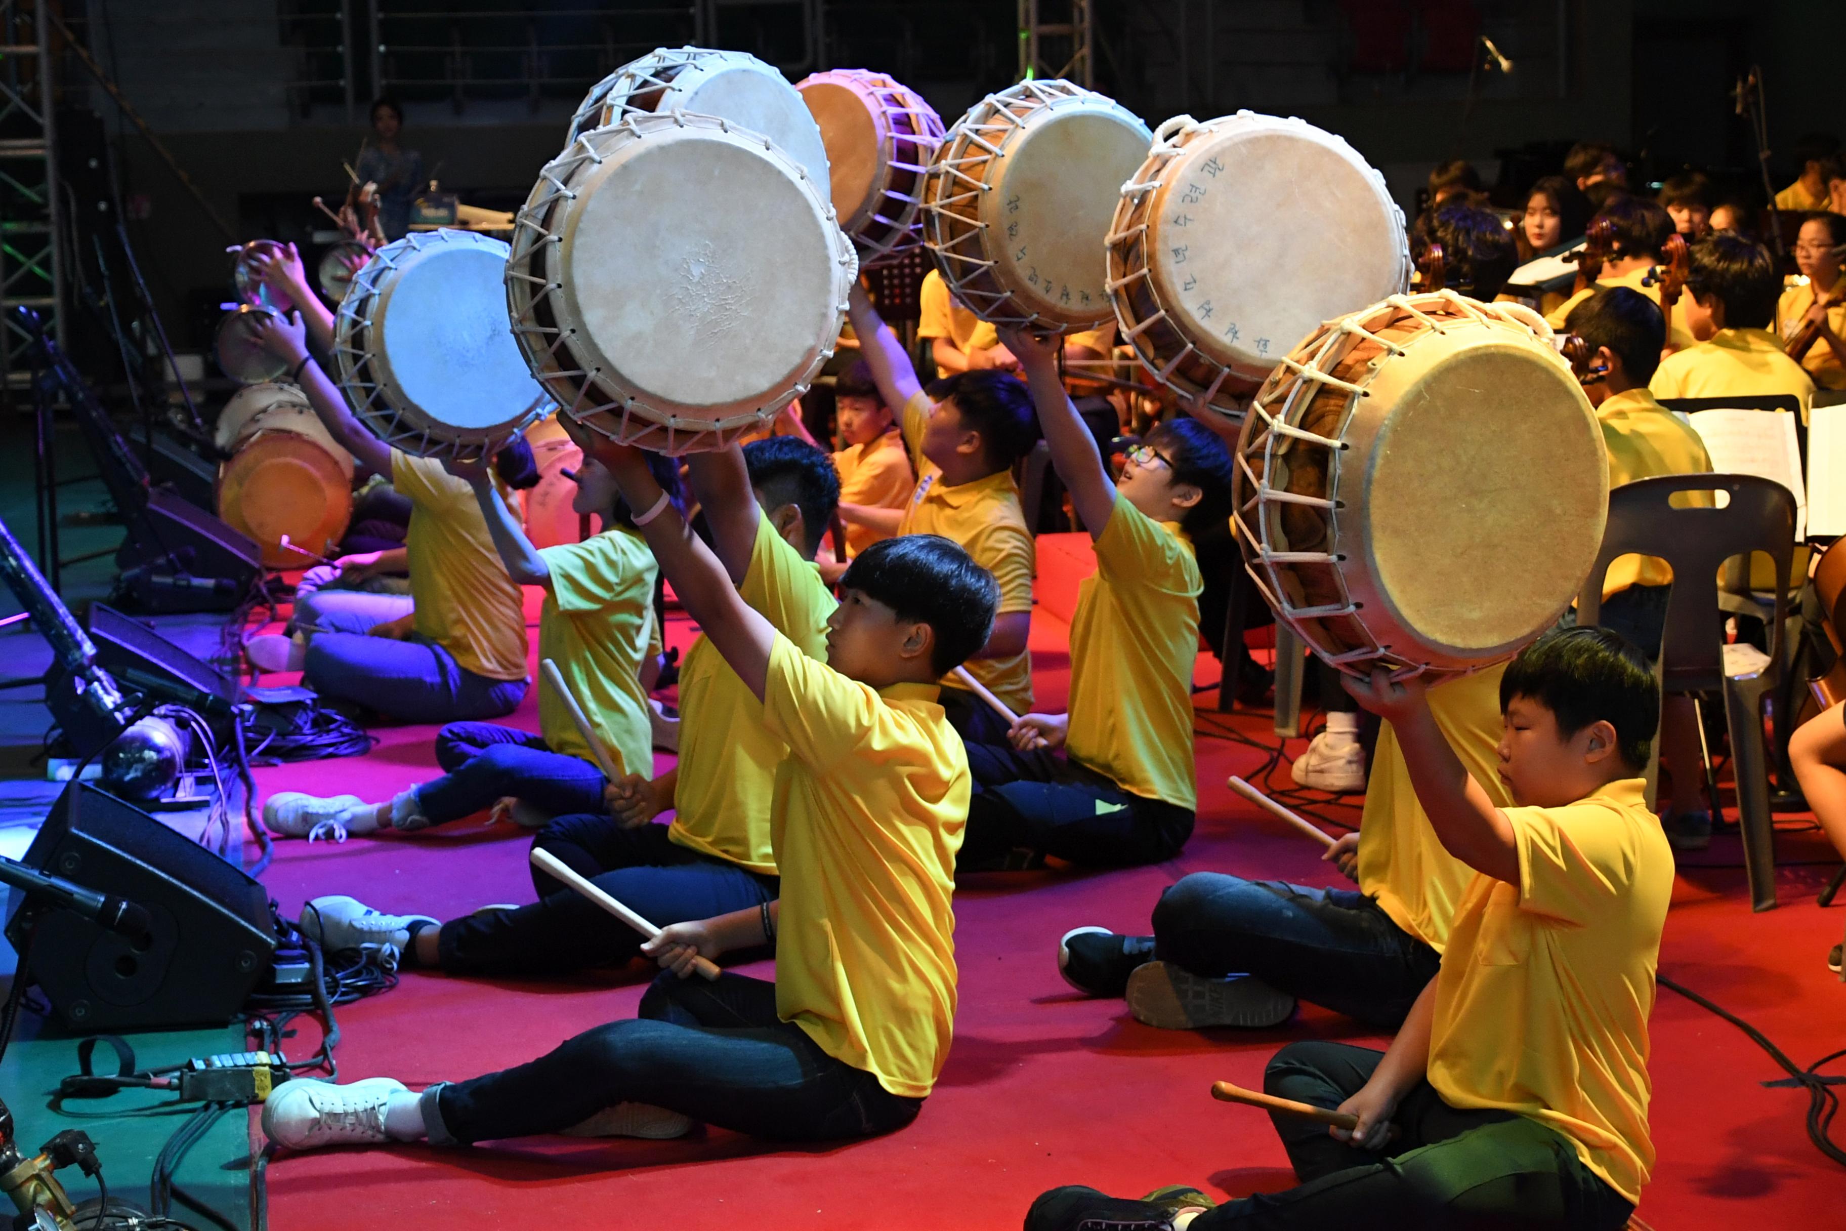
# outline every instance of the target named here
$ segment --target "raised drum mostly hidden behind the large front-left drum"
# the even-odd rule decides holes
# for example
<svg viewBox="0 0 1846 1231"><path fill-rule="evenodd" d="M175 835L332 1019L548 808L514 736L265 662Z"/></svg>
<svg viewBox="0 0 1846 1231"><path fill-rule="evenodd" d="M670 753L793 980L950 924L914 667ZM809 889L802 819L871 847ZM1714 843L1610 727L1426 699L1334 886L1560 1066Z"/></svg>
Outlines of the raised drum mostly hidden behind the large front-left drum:
<svg viewBox="0 0 1846 1231"><path fill-rule="evenodd" d="M591 129L635 114L674 111L718 116L762 133L799 162L809 179L827 183L827 144L801 94L775 66L748 52L683 46L629 61L591 89L570 118L569 137L576 142Z"/></svg>

